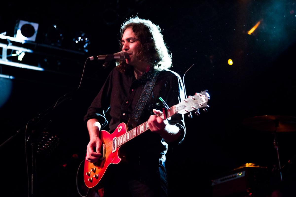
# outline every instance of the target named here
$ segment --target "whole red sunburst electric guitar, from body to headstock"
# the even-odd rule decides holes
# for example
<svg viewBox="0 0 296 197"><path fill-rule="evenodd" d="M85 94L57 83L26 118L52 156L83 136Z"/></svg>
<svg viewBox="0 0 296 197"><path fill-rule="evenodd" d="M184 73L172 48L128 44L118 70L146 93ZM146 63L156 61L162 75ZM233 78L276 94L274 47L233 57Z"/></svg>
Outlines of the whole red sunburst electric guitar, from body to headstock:
<svg viewBox="0 0 296 197"><path fill-rule="evenodd" d="M163 119L169 118L174 114L186 114L193 110L207 107L207 102L210 95L207 91L196 93L194 96L186 98L184 101L167 109ZM120 146L135 138L136 136L149 130L147 122L127 131L126 123L120 123L113 133L108 131L100 131L100 139L102 140L102 158L97 162L84 161L84 183L88 188L93 188L98 185L100 187L102 180L108 166L110 164L118 164L121 159L119 157Z"/></svg>

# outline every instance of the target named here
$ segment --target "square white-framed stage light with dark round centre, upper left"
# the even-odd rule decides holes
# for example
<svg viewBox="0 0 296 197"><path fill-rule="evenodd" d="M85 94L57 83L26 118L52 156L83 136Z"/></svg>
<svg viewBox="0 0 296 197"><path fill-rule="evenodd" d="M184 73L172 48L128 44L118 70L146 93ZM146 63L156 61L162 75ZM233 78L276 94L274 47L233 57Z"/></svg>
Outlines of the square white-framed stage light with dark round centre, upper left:
<svg viewBox="0 0 296 197"><path fill-rule="evenodd" d="M15 38L35 42L38 26L38 23L20 20L15 26Z"/></svg>

